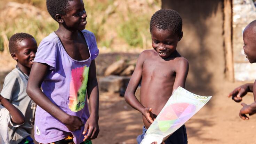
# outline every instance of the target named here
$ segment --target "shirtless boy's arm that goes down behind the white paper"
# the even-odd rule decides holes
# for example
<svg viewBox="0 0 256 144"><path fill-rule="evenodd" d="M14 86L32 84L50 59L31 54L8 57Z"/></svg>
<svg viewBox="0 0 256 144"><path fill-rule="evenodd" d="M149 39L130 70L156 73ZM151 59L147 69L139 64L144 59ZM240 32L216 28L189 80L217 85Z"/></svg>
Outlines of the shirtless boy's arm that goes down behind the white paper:
<svg viewBox="0 0 256 144"><path fill-rule="evenodd" d="M173 85L173 91L178 87L185 87L187 73L189 72L189 62L185 58L179 59L175 72L176 77Z"/></svg>

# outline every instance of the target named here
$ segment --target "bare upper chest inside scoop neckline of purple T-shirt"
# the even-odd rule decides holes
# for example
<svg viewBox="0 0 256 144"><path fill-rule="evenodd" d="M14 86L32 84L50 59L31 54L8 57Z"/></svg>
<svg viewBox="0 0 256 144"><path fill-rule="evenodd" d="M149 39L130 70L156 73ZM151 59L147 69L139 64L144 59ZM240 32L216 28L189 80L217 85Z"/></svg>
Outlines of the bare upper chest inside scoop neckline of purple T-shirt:
<svg viewBox="0 0 256 144"><path fill-rule="evenodd" d="M63 42L63 45L67 54L77 61L83 61L90 57L86 42Z"/></svg>

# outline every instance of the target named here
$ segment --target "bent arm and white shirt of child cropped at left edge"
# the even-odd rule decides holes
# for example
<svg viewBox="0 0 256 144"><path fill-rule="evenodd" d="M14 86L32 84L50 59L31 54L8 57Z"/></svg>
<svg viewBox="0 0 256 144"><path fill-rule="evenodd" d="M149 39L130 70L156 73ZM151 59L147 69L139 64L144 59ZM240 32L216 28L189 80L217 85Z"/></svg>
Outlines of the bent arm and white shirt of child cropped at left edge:
<svg viewBox="0 0 256 144"><path fill-rule="evenodd" d="M9 125L18 127L23 123L24 115L21 111L0 95L0 144L9 143Z"/></svg>

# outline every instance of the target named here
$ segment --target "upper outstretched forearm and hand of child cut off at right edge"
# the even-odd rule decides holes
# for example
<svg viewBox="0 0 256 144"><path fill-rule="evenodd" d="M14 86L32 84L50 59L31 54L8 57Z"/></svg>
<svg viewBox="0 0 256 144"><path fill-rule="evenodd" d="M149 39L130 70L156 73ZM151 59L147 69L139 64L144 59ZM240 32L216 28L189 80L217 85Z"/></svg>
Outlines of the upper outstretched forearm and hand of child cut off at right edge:
<svg viewBox="0 0 256 144"><path fill-rule="evenodd" d="M232 97L235 102L241 102L242 97L245 96L248 92L253 92L253 83L246 83L245 85L235 88L228 97ZM255 97L254 97L255 101Z"/></svg>

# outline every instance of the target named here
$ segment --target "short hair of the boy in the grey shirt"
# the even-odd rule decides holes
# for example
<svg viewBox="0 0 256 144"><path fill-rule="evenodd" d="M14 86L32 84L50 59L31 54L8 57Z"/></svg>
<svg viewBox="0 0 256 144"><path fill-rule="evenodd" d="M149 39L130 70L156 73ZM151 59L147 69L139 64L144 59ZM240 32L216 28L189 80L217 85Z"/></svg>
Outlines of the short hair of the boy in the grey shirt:
<svg viewBox="0 0 256 144"><path fill-rule="evenodd" d="M16 33L13 36L10 37L9 40L9 52L11 53L16 53L17 52L17 47L19 43L27 38L33 38L34 37L30 34L27 33Z"/></svg>

